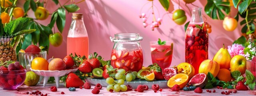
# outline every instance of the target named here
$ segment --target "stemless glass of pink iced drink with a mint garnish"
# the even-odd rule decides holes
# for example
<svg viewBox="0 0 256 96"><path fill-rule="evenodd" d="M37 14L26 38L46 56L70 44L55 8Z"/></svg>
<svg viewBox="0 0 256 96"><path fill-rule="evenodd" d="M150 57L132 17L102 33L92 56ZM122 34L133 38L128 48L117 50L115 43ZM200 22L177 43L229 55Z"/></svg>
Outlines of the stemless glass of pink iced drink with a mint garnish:
<svg viewBox="0 0 256 96"><path fill-rule="evenodd" d="M162 70L170 67L172 63L173 42L159 45L157 41L150 42L152 63L157 63Z"/></svg>

